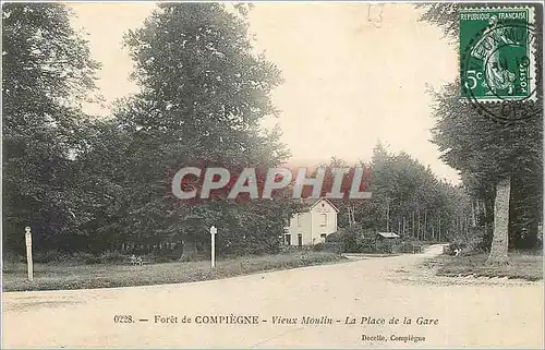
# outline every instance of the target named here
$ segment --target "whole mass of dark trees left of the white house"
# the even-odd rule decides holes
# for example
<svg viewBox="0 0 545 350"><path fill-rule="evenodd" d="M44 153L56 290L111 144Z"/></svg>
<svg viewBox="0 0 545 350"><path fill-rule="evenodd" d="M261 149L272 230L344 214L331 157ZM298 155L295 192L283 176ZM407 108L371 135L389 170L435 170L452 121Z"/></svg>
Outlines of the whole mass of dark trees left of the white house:
<svg viewBox="0 0 545 350"><path fill-rule="evenodd" d="M245 7L237 7L244 12ZM276 166L287 157L270 90L278 69L252 52L243 15L223 4L160 4L126 35L141 92L113 118L89 121L78 101L98 67L62 4L3 7L4 243L24 249L149 251L184 242L218 250L278 248L292 210L282 198L180 205L170 193L180 168ZM179 246L179 249L182 249Z"/></svg>

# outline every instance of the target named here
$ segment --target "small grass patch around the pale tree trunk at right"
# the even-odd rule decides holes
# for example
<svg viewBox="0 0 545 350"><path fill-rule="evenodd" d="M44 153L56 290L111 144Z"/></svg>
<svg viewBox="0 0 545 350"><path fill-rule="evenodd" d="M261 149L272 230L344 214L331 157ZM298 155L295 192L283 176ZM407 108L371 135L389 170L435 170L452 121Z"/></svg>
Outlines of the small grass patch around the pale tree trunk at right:
<svg viewBox="0 0 545 350"><path fill-rule="evenodd" d="M543 279L543 255L510 253L509 265L487 265L488 254L470 256L439 255L426 264L438 276L507 277L509 279Z"/></svg>

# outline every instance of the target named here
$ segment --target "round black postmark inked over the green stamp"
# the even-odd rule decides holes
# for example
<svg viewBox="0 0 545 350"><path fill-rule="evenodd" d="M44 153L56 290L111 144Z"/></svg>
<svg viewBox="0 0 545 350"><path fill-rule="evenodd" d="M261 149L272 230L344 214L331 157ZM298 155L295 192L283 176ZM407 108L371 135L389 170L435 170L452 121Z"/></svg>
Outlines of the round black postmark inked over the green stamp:
<svg viewBox="0 0 545 350"><path fill-rule="evenodd" d="M492 16L488 25L461 48L462 97L480 114L495 121L540 116L543 109L536 101L535 41L533 25Z"/></svg>

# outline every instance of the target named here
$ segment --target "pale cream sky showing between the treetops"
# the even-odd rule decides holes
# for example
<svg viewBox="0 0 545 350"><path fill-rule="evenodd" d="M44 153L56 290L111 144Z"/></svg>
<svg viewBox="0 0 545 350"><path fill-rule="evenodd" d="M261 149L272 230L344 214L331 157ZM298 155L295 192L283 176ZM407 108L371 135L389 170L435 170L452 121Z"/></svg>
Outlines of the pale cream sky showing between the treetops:
<svg viewBox="0 0 545 350"><path fill-rule="evenodd" d="M108 114L117 98L137 92L129 80L133 63L123 34L142 26L153 2L70 3L73 25L88 36L90 52L102 63L98 87ZM420 22L409 3L256 3L250 14L254 48L282 71L272 93L290 164L314 165L331 156L368 161L380 140L390 152L404 150L429 166L439 179L459 182L429 142L434 126L429 88L453 82L457 49L440 28Z"/></svg>

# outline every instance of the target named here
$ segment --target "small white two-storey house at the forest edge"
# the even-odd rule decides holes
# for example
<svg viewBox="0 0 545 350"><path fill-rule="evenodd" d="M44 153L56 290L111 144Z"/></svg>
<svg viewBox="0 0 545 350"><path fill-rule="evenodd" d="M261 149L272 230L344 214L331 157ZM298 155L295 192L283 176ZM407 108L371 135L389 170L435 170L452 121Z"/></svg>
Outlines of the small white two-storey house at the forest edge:
<svg viewBox="0 0 545 350"><path fill-rule="evenodd" d="M326 198L304 201L304 208L295 214L286 227L286 245L313 245L324 242L330 233L337 232L339 209Z"/></svg>

